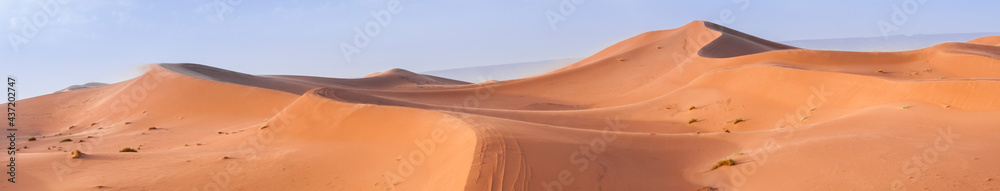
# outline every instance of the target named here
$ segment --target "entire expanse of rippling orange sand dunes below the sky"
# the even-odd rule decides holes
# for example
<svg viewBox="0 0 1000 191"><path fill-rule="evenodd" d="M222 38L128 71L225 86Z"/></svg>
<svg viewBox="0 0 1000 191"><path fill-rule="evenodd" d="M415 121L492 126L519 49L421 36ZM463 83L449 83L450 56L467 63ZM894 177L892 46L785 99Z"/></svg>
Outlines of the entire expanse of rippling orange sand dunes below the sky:
<svg viewBox="0 0 1000 191"><path fill-rule="evenodd" d="M818 51L695 21L478 84L157 64L19 101L4 190L985 190L997 43Z"/></svg>

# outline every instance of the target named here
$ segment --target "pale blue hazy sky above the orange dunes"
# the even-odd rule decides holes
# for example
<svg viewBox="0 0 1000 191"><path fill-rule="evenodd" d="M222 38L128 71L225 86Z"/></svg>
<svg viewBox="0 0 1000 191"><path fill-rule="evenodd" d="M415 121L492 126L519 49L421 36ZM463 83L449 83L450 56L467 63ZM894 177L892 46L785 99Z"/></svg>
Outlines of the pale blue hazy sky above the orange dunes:
<svg viewBox="0 0 1000 191"><path fill-rule="evenodd" d="M391 68L584 58L693 20L773 41L1000 32L997 7L971 0L0 0L0 71L18 78L20 99L121 82L150 63L357 78Z"/></svg>

